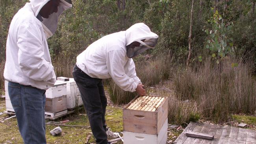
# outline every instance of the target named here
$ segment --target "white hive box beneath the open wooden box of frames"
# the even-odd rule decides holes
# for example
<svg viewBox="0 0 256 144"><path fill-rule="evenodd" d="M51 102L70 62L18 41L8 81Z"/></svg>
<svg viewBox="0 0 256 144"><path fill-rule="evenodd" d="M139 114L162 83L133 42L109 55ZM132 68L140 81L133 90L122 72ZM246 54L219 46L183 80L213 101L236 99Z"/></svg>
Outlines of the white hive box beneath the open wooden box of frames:
<svg viewBox="0 0 256 144"><path fill-rule="evenodd" d="M124 144L166 144L167 142L167 123L165 120L158 135L149 135L144 133L133 133L124 131Z"/></svg>

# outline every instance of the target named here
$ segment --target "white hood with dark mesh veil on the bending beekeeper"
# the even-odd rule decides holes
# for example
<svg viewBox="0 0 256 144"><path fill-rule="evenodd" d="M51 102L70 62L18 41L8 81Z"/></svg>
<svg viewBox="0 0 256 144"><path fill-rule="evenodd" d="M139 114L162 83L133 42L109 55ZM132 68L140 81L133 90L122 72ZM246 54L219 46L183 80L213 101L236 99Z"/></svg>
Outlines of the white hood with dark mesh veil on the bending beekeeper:
<svg viewBox="0 0 256 144"><path fill-rule="evenodd" d="M144 23L137 23L126 30L126 55L129 58L145 52L156 46L158 35L150 31ZM139 42L139 46L127 47L132 42Z"/></svg>

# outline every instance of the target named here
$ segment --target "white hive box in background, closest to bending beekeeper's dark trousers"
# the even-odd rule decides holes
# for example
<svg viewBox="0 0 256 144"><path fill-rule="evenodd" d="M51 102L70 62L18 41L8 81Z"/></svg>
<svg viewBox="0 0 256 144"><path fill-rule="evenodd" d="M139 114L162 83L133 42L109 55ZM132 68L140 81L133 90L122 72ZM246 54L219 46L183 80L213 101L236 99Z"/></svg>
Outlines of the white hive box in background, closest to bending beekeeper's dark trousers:
<svg viewBox="0 0 256 144"><path fill-rule="evenodd" d="M57 79L69 79L68 81L61 80L62 82L67 83L67 109L74 109L75 107L82 105L82 98L74 78L58 77Z"/></svg>

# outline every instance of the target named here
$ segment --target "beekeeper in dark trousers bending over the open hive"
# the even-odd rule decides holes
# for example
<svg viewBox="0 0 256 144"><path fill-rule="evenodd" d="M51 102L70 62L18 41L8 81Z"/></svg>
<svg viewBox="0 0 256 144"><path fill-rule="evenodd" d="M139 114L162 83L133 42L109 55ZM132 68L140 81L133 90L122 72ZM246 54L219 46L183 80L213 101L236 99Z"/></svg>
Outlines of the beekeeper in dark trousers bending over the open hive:
<svg viewBox="0 0 256 144"><path fill-rule="evenodd" d="M137 23L126 31L102 37L77 56L73 77L97 144L110 144L107 138L118 137L106 127L107 99L102 79L112 78L121 89L145 95L132 57L154 48L157 40L158 35L147 25Z"/></svg>

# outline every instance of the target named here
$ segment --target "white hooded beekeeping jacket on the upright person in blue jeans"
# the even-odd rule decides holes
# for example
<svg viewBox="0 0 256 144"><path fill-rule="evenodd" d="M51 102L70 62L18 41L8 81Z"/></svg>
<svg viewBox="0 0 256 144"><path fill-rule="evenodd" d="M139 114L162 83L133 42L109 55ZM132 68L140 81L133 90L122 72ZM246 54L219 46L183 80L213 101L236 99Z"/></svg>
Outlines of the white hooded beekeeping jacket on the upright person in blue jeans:
<svg viewBox="0 0 256 144"><path fill-rule="evenodd" d="M8 81L48 89L56 81L46 39L57 29L59 15L71 1L60 0L58 12L49 18L39 15L49 0L30 0L11 21L6 43L4 78Z"/></svg>

